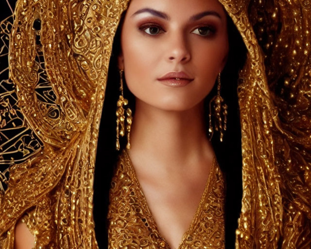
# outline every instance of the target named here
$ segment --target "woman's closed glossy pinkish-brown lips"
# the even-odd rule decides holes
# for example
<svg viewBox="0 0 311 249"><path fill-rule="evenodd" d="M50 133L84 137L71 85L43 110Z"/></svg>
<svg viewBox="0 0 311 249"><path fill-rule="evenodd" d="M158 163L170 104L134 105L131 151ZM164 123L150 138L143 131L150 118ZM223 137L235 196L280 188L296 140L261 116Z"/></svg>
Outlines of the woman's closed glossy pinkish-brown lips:
<svg viewBox="0 0 311 249"><path fill-rule="evenodd" d="M193 81L194 78L191 78L185 72L169 72L158 78L161 84L169 87L184 87Z"/></svg>

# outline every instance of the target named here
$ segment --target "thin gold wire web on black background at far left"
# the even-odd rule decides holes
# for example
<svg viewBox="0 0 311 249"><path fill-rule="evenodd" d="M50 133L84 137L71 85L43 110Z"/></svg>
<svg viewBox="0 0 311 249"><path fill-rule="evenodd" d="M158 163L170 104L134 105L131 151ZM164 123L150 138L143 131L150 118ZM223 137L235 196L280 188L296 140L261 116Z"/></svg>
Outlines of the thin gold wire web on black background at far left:
<svg viewBox="0 0 311 249"><path fill-rule="evenodd" d="M9 37L14 17L8 16L1 22L0 29L0 192L7 188L10 164L26 161L39 152L42 143L25 123L17 105L15 85L8 77Z"/></svg>

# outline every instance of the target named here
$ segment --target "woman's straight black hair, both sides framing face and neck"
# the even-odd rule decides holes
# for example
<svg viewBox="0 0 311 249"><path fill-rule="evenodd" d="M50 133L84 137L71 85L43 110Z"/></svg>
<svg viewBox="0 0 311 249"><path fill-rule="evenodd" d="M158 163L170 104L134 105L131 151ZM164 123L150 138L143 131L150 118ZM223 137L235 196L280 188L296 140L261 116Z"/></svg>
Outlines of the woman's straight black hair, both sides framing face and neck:
<svg viewBox="0 0 311 249"><path fill-rule="evenodd" d="M121 16L120 23L114 37L112 54L110 57L106 96L100 122L100 133L97 143L95 179L94 179L94 220L95 234L99 248L108 246L107 213L109 202L110 182L116 164L118 151L116 143L116 103L119 96L118 55L120 54L120 36L125 13ZM219 142L218 134L214 134L211 143L216 153L217 161L224 172L227 185L226 190L226 248L234 248L235 229L241 210L242 199L242 156L241 156L241 128L239 121L239 107L237 96L238 73L245 63L246 47L239 31L227 15L229 37L229 54L226 66L222 72L221 95L228 105L228 127L225 132L224 142ZM216 94L216 84L205 103ZM129 100L129 106L135 112L135 97L124 86L124 96ZM208 117L208 108L206 117ZM208 124L208 122L207 122ZM208 129L208 128L207 128ZM121 148L125 148L125 139L120 141ZM121 150L120 150L121 151ZM225 157L224 157L225 154Z"/></svg>

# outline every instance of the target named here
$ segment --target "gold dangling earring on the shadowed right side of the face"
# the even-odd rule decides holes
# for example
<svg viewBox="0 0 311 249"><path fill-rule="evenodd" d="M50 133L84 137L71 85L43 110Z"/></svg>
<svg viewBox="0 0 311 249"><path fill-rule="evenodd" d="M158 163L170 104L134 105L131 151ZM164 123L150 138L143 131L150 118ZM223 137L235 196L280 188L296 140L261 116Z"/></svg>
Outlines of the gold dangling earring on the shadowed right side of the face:
<svg viewBox="0 0 311 249"><path fill-rule="evenodd" d="M224 131L227 130L227 115L228 115L228 106L224 104L224 99L220 96L220 73L218 73L217 80L217 95L213 97L210 101L210 113L209 113L209 137L210 139L213 136L214 129L212 125L212 116L215 118L215 130L220 132L220 142L223 141ZM212 108L213 107L213 108ZM212 115L212 110L214 114Z"/></svg>

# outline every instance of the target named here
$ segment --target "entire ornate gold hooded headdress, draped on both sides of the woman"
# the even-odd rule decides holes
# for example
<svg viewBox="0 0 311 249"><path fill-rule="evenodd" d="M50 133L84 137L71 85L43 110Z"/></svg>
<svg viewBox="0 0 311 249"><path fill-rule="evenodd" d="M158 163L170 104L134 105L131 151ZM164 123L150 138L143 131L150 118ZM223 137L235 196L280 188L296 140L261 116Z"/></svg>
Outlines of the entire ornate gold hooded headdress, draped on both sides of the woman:
<svg viewBox="0 0 311 249"><path fill-rule="evenodd" d="M238 87L236 248L310 248L311 2L220 2L248 50ZM0 84L0 160L9 166L0 172L1 248L13 248L15 223L30 209L36 248L98 248L96 145L114 34L128 3L18 0L1 22L9 60Z"/></svg>

